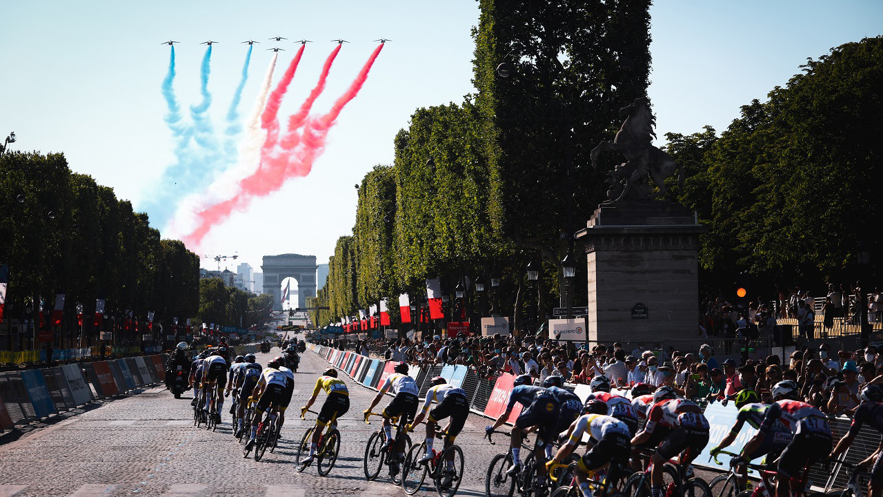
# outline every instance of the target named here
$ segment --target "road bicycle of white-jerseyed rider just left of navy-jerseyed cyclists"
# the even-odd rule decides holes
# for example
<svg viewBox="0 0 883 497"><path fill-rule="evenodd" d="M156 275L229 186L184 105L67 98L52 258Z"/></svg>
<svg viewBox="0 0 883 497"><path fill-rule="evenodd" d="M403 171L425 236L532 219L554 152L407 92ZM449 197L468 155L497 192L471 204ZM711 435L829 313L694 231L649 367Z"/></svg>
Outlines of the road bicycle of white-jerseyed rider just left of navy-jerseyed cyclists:
<svg viewBox="0 0 883 497"><path fill-rule="evenodd" d="M444 440L446 434L441 431L438 425L435 426L435 438ZM451 445L442 451L435 449L432 451L433 458L428 463L419 463L419 460L426 455L425 440L420 445L412 446L408 451L402 464L404 493L408 495L418 493L427 475L432 478L435 493L438 493L439 497L451 497L457 493L460 481L463 479L463 449L457 445Z"/></svg>

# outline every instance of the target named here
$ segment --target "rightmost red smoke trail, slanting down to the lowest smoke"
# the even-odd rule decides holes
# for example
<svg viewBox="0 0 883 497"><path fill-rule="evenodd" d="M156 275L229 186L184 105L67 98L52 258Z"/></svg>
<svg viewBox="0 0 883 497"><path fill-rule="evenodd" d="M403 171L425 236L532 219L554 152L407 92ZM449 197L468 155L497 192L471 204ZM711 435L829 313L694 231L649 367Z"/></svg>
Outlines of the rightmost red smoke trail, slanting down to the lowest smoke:
<svg viewBox="0 0 883 497"><path fill-rule="evenodd" d="M343 107L358 95L358 91L362 88L368 78L371 66L374 65L374 61L377 59L377 56L380 55L382 49L382 43L374 49L374 52L371 54L371 57L368 57L367 62L362 66L362 70L359 71L356 79L352 81L350 88L347 89L343 96L337 99L327 114L317 119L310 120L304 132L305 149L298 154L298 157L288 157L287 167L284 169L282 180L268 181L260 178L253 178L261 173L262 168L259 168L258 172L255 172L255 174L246 178L246 180L251 180L250 185L252 187L260 186L260 189L253 188L246 191L244 180L241 183L243 188L236 196L230 198L230 200L210 205L206 209L198 212L197 227L192 233L183 237L185 244L192 248L198 247L211 228L230 217L230 213L234 209L244 209L249 203L251 203L255 196L264 196L275 192L283 186L284 180L287 180L288 178L306 176L309 174L313 169L313 161L315 161L316 157L321 155L321 152L325 148L325 137L328 135L328 130L335 125L335 121L340 115L340 112L343 111Z"/></svg>

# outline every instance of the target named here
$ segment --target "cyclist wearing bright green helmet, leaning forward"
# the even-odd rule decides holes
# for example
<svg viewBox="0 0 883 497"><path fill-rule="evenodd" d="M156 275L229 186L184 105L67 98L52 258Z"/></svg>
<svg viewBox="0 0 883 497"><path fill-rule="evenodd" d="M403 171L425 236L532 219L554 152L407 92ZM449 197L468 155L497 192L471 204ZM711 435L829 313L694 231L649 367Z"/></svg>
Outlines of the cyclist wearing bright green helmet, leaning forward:
<svg viewBox="0 0 883 497"><path fill-rule="evenodd" d="M754 429L759 429L760 424L763 423L764 417L766 417L766 410L769 409L769 406L763 403L760 403L760 396L754 390L741 390L738 394L736 394L736 409L739 409L739 414L736 415L736 424L733 424L733 427L730 429L729 433L721 443L714 447L710 454L712 457L721 452L721 449L724 447L728 447L734 440L736 440L736 436L738 436L739 432L742 430L743 425L747 422ZM756 451L753 453L744 453L744 459L746 461L751 461L752 459L757 459L761 455L766 455L767 461L773 461L776 457L781 454L781 451L784 450L785 447L788 446L791 441L791 431L785 427L784 424L781 424L781 421L777 421L772 428L772 433L770 436L767 436L764 439L764 443L758 447ZM745 478L748 478L747 469L742 466L742 478L739 481L739 487L743 488L745 486Z"/></svg>

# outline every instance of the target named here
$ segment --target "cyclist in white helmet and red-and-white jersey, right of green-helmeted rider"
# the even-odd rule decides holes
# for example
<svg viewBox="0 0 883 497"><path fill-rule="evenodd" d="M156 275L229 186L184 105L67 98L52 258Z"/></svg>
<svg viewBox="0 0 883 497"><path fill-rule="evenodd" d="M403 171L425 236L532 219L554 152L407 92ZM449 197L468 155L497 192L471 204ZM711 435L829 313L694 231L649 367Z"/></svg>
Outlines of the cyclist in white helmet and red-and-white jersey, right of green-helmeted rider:
<svg viewBox="0 0 883 497"><path fill-rule="evenodd" d="M810 464L827 457L831 452L831 429L822 411L804 401L797 401L800 392L795 382L784 380L773 387L773 403L766 409L763 423L742 454L754 454L769 436L776 421L780 421L794 437L779 457L776 473L776 497L788 497L800 484L800 472ZM789 489L790 488L790 489Z"/></svg>

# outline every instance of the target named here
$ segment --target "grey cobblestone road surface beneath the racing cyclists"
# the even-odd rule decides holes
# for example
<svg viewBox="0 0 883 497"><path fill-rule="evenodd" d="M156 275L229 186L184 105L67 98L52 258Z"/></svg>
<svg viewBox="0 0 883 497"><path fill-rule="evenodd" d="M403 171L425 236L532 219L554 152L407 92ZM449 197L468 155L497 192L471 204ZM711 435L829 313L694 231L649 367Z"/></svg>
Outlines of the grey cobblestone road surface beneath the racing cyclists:
<svg viewBox="0 0 883 497"><path fill-rule="evenodd" d="M258 361L266 364L269 357L259 355ZM303 355L291 417L297 416L298 407L312 392L317 373L327 367L312 352ZM366 481L362 455L378 424L366 425L360 414L375 393L350 378L344 380L350 386L351 410L339 422L343 433L340 457L326 478L318 476L314 466L303 473L295 470L295 440L300 440L312 420L286 420L283 441L275 453L267 452L255 462L242 457L242 446L230 435L228 413L216 432L197 429L192 425L192 397L188 394L176 401L159 386L0 446L0 497L404 495L384 473L374 482ZM316 407L323 400L321 394ZM460 495L484 494L487 463L503 450L502 443L490 446L482 441L485 424L486 419L470 416L457 439L466 456L467 472ZM424 490L421 494L435 493Z"/></svg>

